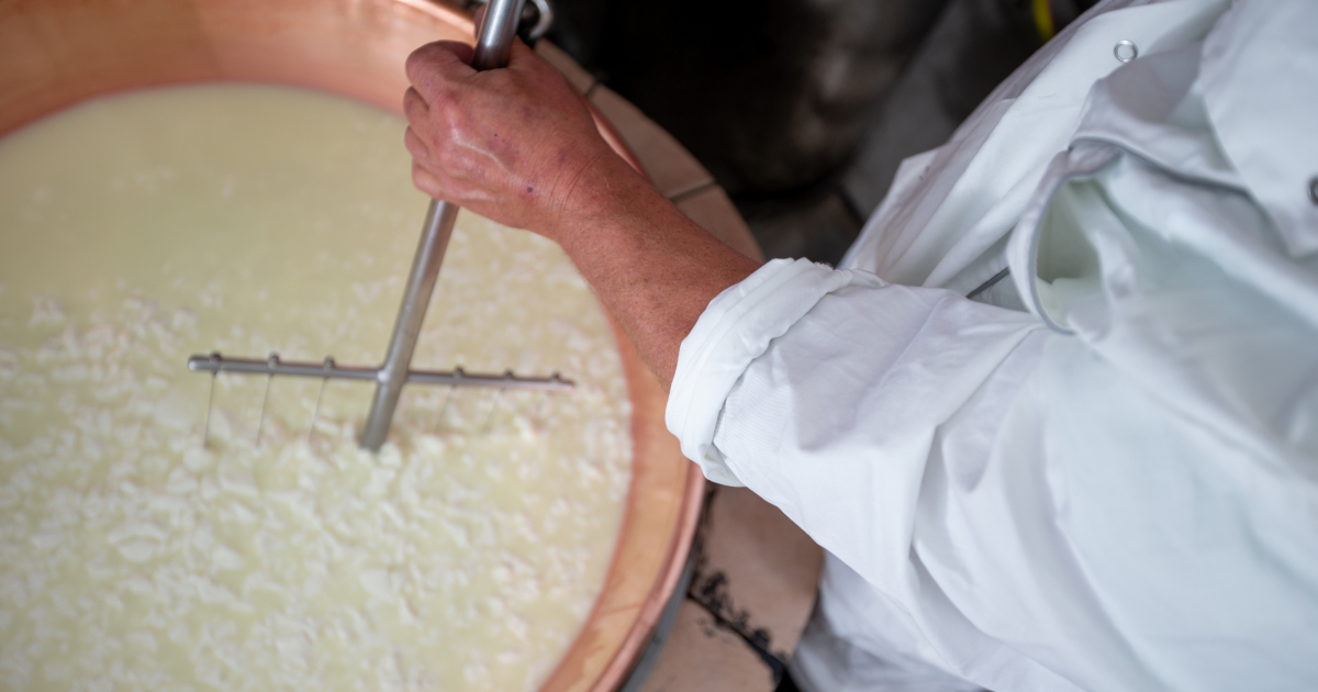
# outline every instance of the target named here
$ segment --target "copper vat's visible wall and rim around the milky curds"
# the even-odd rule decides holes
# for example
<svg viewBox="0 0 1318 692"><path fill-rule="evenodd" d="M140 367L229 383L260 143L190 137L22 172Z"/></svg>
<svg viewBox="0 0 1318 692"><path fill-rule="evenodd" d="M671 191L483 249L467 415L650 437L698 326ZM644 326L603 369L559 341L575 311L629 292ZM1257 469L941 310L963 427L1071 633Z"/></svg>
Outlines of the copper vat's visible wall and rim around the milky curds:
<svg viewBox="0 0 1318 692"><path fill-rule="evenodd" d="M312 87L399 112L403 59L442 38L471 42L472 18L428 0L5 0L0 136L91 96L215 80ZM664 427L667 395L617 324L614 335L633 402L627 509L604 591L542 692L621 684L679 581L700 514L704 480Z"/></svg>

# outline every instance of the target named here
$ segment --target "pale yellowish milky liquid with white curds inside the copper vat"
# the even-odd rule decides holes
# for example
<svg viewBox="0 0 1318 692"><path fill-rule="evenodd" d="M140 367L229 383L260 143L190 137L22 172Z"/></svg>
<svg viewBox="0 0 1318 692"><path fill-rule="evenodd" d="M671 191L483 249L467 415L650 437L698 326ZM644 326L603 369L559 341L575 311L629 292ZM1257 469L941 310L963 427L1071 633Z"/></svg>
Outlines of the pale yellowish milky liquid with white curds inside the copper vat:
<svg viewBox="0 0 1318 692"><path fill-rule="evenodd" d="M211 378L374 365L427 200L403 123L258 86L92 101L0 140L0 689L534 689L617 538L605 316L554 244L463 212L414 366L568 394Z"/></svg>

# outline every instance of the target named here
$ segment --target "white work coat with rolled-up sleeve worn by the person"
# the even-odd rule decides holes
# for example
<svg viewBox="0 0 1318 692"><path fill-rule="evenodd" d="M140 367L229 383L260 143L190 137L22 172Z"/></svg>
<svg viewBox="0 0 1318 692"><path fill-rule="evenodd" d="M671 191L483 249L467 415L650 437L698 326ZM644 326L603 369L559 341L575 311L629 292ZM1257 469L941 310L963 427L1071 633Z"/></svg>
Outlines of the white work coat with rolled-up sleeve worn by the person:
<svg viewBox="0 0 1318 692"><path fill-rule="evenodd" d="M817 625L862 652L1315 689L1318 3L1126 5L905 166L846 269L716 298L668 424L830 552ZM1029 312L963 298L1003 266Z"/></svg>

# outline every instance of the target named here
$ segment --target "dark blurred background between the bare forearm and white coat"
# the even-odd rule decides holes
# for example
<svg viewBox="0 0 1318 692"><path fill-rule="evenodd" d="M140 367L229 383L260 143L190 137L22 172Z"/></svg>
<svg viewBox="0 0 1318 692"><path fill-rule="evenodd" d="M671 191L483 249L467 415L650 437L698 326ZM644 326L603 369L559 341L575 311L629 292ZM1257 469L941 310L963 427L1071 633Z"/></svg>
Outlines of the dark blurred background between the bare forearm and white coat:
<svg viewBox="0 0 1318 692"><path fill-rule="evenodd" d="M550 1L550 40L676 136L766 254L836 262L900 159L1095 0Z"/></svg>

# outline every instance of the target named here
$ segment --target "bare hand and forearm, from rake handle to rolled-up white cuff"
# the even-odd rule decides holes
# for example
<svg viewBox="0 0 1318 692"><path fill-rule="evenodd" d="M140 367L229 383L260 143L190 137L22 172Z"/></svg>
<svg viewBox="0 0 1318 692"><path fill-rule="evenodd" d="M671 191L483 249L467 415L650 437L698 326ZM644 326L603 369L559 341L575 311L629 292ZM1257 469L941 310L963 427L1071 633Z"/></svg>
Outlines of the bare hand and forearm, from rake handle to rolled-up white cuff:
<svg viewBox="0 0 1318 692"><path fill-rule="evenodd" d="M618 157L585 100L525 43L507 69L477 72L471 61L453 42L407 58L413 182L561 245L667 389L705 306L758 264Z"/></svg>

